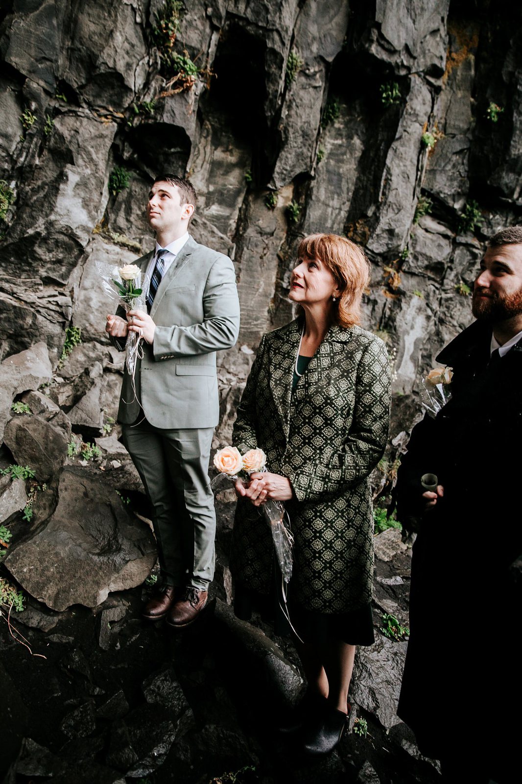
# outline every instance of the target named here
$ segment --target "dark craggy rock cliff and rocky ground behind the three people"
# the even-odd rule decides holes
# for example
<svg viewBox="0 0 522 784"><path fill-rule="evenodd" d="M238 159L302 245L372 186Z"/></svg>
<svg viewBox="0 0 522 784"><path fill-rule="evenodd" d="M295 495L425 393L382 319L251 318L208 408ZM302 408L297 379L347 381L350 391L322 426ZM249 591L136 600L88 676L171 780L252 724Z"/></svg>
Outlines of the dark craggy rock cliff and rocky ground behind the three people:
<svg viewBox="0 0 522 784"><path fill-rule="evenodd" d="M390 446L374 477L376 491L386 495L405 431L419 416L420 372L470 321L469 292L484 242L498 228L522 222L521 17L521 9L500 0L3 2L0 614L22 586L28 609L20 618L31 646L42 646L38 630L67 619L70 632L64 635L69 627L60 626L48 640L63 650L75 646L78 618L67 608L83 604L94 608L82 615L89 639L99 612L100 649L118 652L113 674L124 655L127 663L140 662L137 674L125 666L129 681L153 677L150 634L157 652L161 648L152 661L171 666L161 632L135 633L137 586L150 573L155 548L147 525L136 520L150 513L114 428L122 357L103 331L112 306L96 274L96 261L121 265L150 249L143 208L151 177L161 169L190 175L199 200L195 237L236 264L241 336L219 357L222 418L215 445L230 439L260 336L292 318L286 295L299 238L332 231L364 245L372 262L364 326L386 340L393 365ZM218 615L232 625L226 603L234 494L219 495L212 590L223 603ZM374 620L381 631L382 613L408 622L406 547L393 528L375 537ZM125 593L114 593L120 590ZM254 650L256 630L237 625ZM210 649L224 651L225 659L236 645L223 646L223 624L216 628ZM352 721L368 718L368 739L345 738L341 760L330 760L323 779L314 768L289 770L286 762L281 768L281 757L276 753L273 763L264 750L263 764L276 771L266 781L331 781L355 768L354 781L388 782L390 769L397 781L438 780L394 713L405 644L376 636L375 646L357 659L352 695ZM268 680L282 673L283 691L293 695L299 679L266 645L260 658L269 662ZM38 706L31 717L39 716L42 699L53 709L45 728L29 727L25 719L18 727L10 714L5 721L17 738L13 750L24 735L34 739L16 763L24 775L58 771L60 780L69 780L65 754L74 756L76 768L82 760L85 781L118 782L125 773L148 775L169 753L169 764L195 782L217 772L205 768L205 754L215 765L223 759L223 770L263 757L257 743L236 733L235 719L230 724L212 657L205 655L202 664L198 655L186 655L194 675L189 672L183 691L190 705L201 699L205 706L198 727L177 687L171 699L163 675L152 691L165 691L165 709L143 681L145 699L154 703L153 728L152 719L143 723L134 684L130 707L123 692L114 691L121 688L119 674L114 688L107 686L104 659L92 655L98 662L92 682L82 661L63 659L67 684L73 671L81 681L71 692L55 685L54 676L42 681L25 659L17 669L14 637L0 646L9 653L9 672L24 673L24 699L2 677L8 695ZM142 667L143 648L148 659ZM179 669L190 667L182 659ZM256 681L256 672L248 678ZM234 671L234 679L242 688L245 678ZM194 699L194 684L201 698ZM60 691L67 701L56 706ZM211 692L219 710L208 710ZM109 708L102 704L106 696ZM72 713L64 715L65 706ZM159 725L158 710L165 719ZM126 724L120 726L121 717ZM176 743L171 721L176 733L185 722ZM224 722L224 735L215 722ZM111 733L110 743L102 732ZM66 736L72 746L60 750ZM58 757L45 756L38 744ZM92 768L101 761L111 770ZM169 764L158 782L171 780Z"/></svg>

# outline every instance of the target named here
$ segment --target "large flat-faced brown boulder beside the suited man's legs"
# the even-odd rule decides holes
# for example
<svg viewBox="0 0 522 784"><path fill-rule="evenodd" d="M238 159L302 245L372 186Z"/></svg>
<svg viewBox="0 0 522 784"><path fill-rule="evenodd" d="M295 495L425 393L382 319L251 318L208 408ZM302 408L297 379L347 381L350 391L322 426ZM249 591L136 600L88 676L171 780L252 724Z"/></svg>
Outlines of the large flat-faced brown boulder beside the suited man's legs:
<svg viewBox="0 0 522 784"><path fill-rule="evenodd" d="M4 563L27 593L61 611L140 585L155 559L150 529L130 517L103 474L66 466L54 514Z"/></svg>

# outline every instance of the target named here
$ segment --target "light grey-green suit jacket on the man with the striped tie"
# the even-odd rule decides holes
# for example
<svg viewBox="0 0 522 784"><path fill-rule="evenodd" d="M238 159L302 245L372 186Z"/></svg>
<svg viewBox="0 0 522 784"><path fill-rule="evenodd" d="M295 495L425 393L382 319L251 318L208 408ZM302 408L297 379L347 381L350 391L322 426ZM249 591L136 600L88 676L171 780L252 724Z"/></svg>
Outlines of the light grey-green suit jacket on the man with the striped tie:
<svg viewBox="0 0 522 784"><path fill-rule="evenodd" d="M142 280L151 255L136 262ZM161 280L150 318L156 324L154 343L142 341L136 394L125 368L118 421L135 422L141 403L147 420L156 427L216 426L216 351L234 346L239 332L234 264L190 237ZM122 341L114 343L125 347Z"/></svg>

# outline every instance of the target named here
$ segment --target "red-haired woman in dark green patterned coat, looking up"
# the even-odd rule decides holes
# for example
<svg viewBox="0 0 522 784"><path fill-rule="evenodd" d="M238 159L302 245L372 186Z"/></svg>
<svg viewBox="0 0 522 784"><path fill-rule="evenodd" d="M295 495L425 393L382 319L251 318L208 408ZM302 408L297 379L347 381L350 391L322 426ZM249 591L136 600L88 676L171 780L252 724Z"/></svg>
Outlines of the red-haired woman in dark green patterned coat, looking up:
<svg viewBox="0 0 522 784"><path fill-rule="evenodd" d="M382 341L360 326L369 265L350 240L299 244L289 298L302 314L268 332L237 408L234 445L259 447L268 473L237 485L230 568L234 610L274 594L270 530L256 506L285 502L294 535L288 608L308 688L295 723L309 753L331 750L347 723L357 644L374 641L369 474L386 446L390 376Z"/></svg>

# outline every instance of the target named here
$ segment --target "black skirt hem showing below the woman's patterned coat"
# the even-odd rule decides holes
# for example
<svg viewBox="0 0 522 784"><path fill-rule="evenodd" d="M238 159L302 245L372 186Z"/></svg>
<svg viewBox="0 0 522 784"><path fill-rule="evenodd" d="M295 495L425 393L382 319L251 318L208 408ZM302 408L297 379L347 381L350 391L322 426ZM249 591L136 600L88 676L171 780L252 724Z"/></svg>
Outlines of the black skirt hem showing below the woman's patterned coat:
<svg viewBox="0 0 522 784"><path fill-rule="evenodd" d="M372 604L364 604L357 610L342 613L314 612L307 610L296 597L292 596L292 580L288 586L287 608L292 626L285 617L281 586L273 586L270 595L256 593L241 583L234 584L234 614L243 621L252 618L252 612L259 612L261 619L274 626L274 632L281 637L292 634L292 626L306 644L322 645L335 641L349 645L372 645L373 633Z"/></svg>

